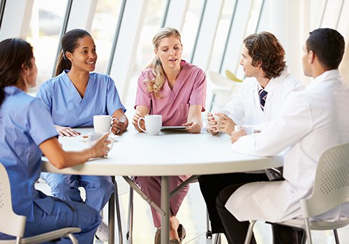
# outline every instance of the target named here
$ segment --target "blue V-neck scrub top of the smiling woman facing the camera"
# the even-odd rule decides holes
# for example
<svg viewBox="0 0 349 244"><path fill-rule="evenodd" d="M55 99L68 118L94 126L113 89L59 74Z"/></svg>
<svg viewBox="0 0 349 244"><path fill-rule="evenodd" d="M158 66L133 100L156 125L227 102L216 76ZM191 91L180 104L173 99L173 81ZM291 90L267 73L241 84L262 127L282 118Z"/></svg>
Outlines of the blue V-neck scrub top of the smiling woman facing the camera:
<svg viewBox="0 0 349 244"><path fill-rule="evenodd" d="M64 70L57 77L44 82L36 95L50 110L55 125L89 127L94 125L94 115L112 115L117 109L126 112L110 76L90 73L84 98L81 98L68 72Z"/></svg>

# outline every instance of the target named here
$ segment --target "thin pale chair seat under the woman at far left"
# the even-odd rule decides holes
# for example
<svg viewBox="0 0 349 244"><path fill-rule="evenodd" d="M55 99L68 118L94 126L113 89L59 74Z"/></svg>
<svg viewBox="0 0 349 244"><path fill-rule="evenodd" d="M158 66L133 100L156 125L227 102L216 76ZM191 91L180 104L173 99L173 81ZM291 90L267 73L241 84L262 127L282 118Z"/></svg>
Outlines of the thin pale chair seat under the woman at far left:
<svg viewBox="0 0 349 244"><path fill-rule="evenodd" d="M50 231L44 234L31 236L28 238L22 238L22 243L43 243L47 241L51 241L54 239L59 239L61 236L67 235L68 233L78 233L80 232L80 228L63 228L63 229L57 229L55 231ZM0 244L10 244L10 243L16 243L16 240L0 240Z"/></svg>

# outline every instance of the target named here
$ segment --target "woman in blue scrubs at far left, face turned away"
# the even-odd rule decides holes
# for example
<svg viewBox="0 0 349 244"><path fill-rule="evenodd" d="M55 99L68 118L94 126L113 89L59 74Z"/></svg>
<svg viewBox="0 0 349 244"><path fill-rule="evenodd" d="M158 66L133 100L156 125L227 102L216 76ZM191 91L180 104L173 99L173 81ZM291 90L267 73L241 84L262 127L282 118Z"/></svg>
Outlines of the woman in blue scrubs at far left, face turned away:
<svg viewBox="0 0 349 244"><path fill-rule="evenodd" d="M36 85L37 73L29 43L19 38L0 42L0 162L10 178L13 211L27 217L25 237L79 227L79 243L93 243L101 222L98 211L86 204L48 197L34 188L34 182L40 176L43 153L61 169L106 156L110 142L106 135L84 151L64 151L50 112L40 99L26 93ZM11 238L0 233L0 240Z"/></svg>

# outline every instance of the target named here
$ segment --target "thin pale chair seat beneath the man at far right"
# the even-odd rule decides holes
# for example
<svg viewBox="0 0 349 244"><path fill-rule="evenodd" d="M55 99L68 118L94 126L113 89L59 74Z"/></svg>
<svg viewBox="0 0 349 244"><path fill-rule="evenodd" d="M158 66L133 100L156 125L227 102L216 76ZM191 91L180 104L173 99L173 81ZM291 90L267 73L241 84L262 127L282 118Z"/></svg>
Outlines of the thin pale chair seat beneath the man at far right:
<svg viewBox="0 0 349 244"><path fill-rule="evenodd" d="M300 229L305 229L304 218L295 218L292 220L287 220L285 222L280 222L278 224L286 225L289 227L297 227ZM325 230L325 229L339 229L345 227L349 224L349 218L337 221L311 221L310 226L313 230Z"/></svg>

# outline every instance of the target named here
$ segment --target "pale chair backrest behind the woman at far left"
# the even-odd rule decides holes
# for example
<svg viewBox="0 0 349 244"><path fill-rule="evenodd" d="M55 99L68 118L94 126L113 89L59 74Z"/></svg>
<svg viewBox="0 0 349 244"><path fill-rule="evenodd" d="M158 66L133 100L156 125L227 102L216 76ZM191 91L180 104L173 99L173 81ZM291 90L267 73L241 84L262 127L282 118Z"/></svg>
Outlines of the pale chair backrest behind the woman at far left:
<svg viewBox="0 0 349 244"><path fill-rule="evenodd" d="M20 181L20 179L18 179ZM13 212L10 181L0 162L0 232L11 236L24 236L26 217Z"/></svg>

